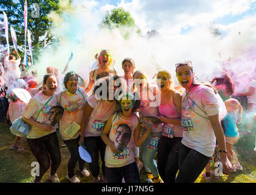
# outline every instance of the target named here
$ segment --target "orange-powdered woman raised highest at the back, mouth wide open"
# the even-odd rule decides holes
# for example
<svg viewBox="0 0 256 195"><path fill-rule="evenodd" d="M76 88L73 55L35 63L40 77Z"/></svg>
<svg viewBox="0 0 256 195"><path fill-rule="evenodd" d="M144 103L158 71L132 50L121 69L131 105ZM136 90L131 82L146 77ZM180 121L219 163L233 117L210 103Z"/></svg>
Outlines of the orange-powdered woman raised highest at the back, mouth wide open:
<svg viewBox="0 0 256 195"><path fill-rule="evenodd" d="M97 80L98 74L108 73L117 75L117 71L115 71L115 69L112 68L113 65L113 59L109 51L106 49L101 50L100 55L98 55L98 68L93 69L89 73L89 83L86 88L86 93L89 93L92 89L93 83L95 83L95 81Z"/></svg>

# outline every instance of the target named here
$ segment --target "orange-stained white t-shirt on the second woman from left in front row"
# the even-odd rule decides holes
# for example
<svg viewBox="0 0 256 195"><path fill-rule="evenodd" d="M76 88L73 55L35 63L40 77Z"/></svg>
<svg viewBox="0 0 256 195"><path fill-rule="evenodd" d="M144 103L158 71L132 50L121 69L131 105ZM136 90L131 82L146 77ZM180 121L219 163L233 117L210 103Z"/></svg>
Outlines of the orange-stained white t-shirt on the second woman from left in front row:
<svg viewBox="0 0 256 195"><path fill-rule="evenodd" d="M74 137L69 137L64 133L64 131L73 121L81 126L82 113L84 111L86 99L86 91L81 88L76 90L74 94L67 90L57 94L57 101L59 102L59 105L64 108L64 114L59 121L59 132L62 140L71 140L79 136L79 131L74 135Z"/></svg>

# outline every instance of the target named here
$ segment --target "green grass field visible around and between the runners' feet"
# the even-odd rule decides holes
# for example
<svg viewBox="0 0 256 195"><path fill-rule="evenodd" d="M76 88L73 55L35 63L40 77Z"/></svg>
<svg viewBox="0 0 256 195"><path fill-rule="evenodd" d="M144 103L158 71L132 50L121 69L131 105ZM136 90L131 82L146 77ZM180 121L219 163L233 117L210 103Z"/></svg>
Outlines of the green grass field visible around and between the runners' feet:
<svg viewBox="0 0 256 195"><path fill-rule="evenodd" d="M225 183L255 183L256 182L256 152L255 147L255 124L254 131L251 136L240 136L240 140L235 144L234 150L243 166L243 171L231 172L229 176L223 176L220 180L214 180L212 182L225 182ZM32 161L36 161L34 155L32 155L27 143L25 142L25 151L19 152L17 150L11 151L10 146L12 145L15 136L10 133L9 127L5 127L4 124L0 123L0 182L1 183L28 183L33 181L31 176L31 166ZM60 145L61 145L61 140ZM67 163L70 157L67 147L60 147L60 152L62 156L61 165L57 171L60 182L69 182L66 179L67 176ZM85 165L89 170L89 165ZM214 170L214 166L211 166ZM49 171L43 176L43 182L49 182L48 177ZM81 179L82 183L90 183L92 181L92 176L82 177L77 171L77 166L75 169L75 174ZM101 173L100 173L101 174ZM142 168L141 171L141 182L145 182L147 178L145 174L145 169ZM207 181L199 176L196 183L206 183Z"/></svg>

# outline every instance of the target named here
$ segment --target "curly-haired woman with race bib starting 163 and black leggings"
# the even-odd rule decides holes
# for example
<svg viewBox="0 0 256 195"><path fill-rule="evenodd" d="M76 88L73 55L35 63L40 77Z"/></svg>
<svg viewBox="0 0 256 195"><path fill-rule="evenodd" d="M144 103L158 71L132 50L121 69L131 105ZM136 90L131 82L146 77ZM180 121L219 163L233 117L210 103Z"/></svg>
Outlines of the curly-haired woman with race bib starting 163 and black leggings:
<svg viewBox="0 0 256 195"><path fill-rule="evenodd" d="M89 163L89 166L93 176L93 183L106 181L104 163L106 144L104 144L100 136L109 116L111 116L117 110L117 101L115 99L111 100L108 95L109 93L115 93L115 80L117 79L119 79L119 77L115 76L112 81L109 80L109 77L104 77L98 80L95 88L93 89L93 93L87 99L86 105L84 106L84 113L82 115L81 123L81 138L79 143L84 143L84 145L87 147L87 151L92 157L92 163ZM95 92L100 88L100 84L104 82L107 85L106 90L108 96L107 99L100 99L98 94ZM102 161L102 178L99 175L99 152Z"/></svg>

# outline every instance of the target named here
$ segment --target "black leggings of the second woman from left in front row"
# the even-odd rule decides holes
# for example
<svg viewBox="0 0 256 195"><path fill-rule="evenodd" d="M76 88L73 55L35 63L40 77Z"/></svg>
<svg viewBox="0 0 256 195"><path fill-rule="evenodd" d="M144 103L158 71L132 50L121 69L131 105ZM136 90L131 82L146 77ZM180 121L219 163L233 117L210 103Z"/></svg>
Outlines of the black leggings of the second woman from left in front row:
<svg viewBox="0 0 256 195"><path fill-rule="evenodd" d="M77 162L78 162L78 167L80 171L84 170L84 164L86 163L86 161L82 160L82 158L79 155L79 151L78 151L79 139L80 139L80 136L73 140L63 140L64 143L67 145L68 151L70 152L70 159L68 160L68 177L69 178L75 176L74 169Z"/></svg>

